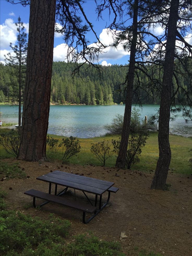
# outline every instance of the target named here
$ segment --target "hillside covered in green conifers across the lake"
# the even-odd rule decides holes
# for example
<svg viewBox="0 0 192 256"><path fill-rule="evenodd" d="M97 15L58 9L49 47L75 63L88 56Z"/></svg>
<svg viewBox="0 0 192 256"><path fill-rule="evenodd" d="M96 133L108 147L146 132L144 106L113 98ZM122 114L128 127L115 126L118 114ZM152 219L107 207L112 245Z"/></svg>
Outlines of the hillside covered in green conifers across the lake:
<svg viewBox="0 0 192 256"><path fill-rule="evenodd" d="M124 103L126 91L124 90L125 85L121 84L125 82L128 67L119 65L103 66L103 72L99 76L97 70L85 64L81 67L80 76L72 78L73 70L74 64L72 62L53 62L51 83L51 102L53 104L112 105L114 103ZM18 81L14 72L15 69L0 64L0 102L2 103L18 101ZM161 79L163 76L163 74L159 75L157 71L155 73L151 67L149 67L150 72L154 81L159 80L159 77ZM138 81L137 76L135 77L136 80ZM160 83L157 82L157 86L151 91L151 85L148 86L149 79L147 77L139 77L139 80L141 86L137 87L135 91L133 103L136 103L137 98L139 98L142 104L159 104ZM183 84L183 88L190 86L185 84L182 77L180 80L179 82ZM23 81L23 88L24 83ZM174 79L173 85L176 87ZM181 90L181 98L182 94ZM148 95L151 95L151 97Z"/></svg>

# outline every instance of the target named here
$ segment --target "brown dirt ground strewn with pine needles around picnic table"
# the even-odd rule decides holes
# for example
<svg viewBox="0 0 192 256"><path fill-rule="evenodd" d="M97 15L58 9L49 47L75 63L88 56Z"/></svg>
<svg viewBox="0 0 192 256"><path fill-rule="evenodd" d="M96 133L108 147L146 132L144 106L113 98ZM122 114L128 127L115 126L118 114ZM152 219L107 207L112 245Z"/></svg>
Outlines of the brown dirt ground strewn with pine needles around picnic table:
<svg viewBox="0 0 192 256"><path fill-rule="evenodd" d="M167 177L167 183L171 184L170 190L158 191L150 189L154 172L145 174L90 165L61 165L58 162L39 164L13 159L5 161L17 162L30 176L1 181L1 189L8 192L9 207L45 219L50 213L68 219L71 222L68 242L72 240L72 235L86 234L88 231L100 239L121 242L121 232L125 232L128 238L121 242L125 255L131 255L135 247L169 256L192 255L192 175L178 175L170 171ZM40 210L34 209L32 197L23 193L32 188L48 192L48 183L38 181L36 177L51 170L112 181L119 191L111 193L111 204L88 224L82 223L82 212L61 205L49 203ZM74 190L70 191L74 198ZM82 192L76 191L76 197L82 196ZM37 203L38 200L41 201L37 199ZM30 207L26 207L28 205Z"/></svg>

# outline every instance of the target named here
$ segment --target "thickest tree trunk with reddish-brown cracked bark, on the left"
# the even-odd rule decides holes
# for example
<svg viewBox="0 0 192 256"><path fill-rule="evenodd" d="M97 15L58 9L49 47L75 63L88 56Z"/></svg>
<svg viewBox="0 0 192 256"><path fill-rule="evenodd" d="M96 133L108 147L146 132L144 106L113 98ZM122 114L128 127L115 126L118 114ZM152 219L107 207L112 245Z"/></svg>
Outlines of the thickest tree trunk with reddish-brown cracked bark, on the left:
<svg viewBox="0 0 192 256"><path fill-rule="evenodd" d="M18 159L46 160L56 0L31 0Z"/></svg>

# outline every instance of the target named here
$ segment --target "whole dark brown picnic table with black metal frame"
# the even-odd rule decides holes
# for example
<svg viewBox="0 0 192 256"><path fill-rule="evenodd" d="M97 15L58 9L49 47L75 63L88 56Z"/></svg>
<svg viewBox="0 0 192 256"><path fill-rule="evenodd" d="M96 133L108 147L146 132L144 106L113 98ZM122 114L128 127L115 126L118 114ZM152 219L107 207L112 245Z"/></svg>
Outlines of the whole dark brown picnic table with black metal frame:
<svg viewBox="0 0 192 256"><path fill-rule="evenodd" d="M35 205L35 198L40 198L46 200L43 204L39 206L43 206L47 203L53 202L61 205L69 206L78 210L83 211L83 223L88 223L93 219L108 203L110 199L110 193L116 193L118 188L113 187L114 182L98 180L95 178L90 178L86 176L80 176L68 172L63 171L53 171L42 176L37 177L37 180L45 181L49 183L49 193L45 193L39 190L31 189L26 191L24 194L30 195L33 197L33 206ZM51 194L51 186L55 184L55 194ZM57 193L57 186L63 186L64 189ZM68 188L73 188L75 190L80 190L83 192L87 200L90 204L83 203L79 200L68 199L61 197L63 194L67 192ZM89 199L88 195L93 194L95 196L94 205ZM107 201L104 205L102 205L102 195L104 193L108 193ZM98 196L99 196L99 204L98 204ZM91 213L92 216L86 220L85 213Z"/></svg>

